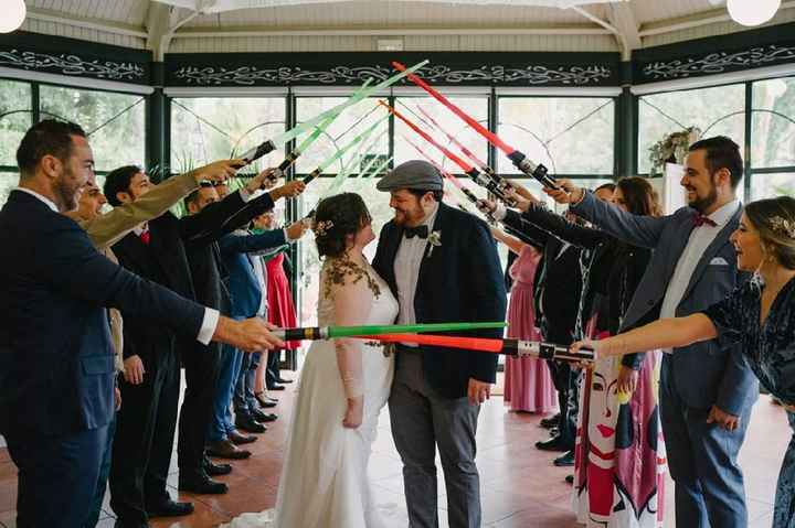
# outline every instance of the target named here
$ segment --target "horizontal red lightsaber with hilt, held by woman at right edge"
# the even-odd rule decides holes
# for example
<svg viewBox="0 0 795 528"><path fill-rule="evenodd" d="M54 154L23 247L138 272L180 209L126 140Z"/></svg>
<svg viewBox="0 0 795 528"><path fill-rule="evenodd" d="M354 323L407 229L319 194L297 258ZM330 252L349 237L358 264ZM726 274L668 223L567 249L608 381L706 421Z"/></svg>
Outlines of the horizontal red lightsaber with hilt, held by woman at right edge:
<svg viewBox="0 0 795 528"><path fill-rule="evenodd" d="M490 352L516 357L538 357L561 362L592 363L596 354L591 348L580 348L576 353L568 346L542 341L490 340L487 337L460 337L455 335L433 334L378 334L357 336L361 340L380 341L383 343L412 343L415 345L444 346L464 348L476 352Z"/></svg>

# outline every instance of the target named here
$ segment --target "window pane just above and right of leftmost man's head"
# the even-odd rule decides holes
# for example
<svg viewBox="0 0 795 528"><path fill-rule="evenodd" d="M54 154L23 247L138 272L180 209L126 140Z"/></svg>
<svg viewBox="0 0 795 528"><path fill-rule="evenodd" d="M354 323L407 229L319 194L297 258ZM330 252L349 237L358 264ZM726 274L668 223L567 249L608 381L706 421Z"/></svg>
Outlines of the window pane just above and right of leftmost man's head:
<svg viewBox="0 0 795 528"><path fill-rule="evenodd" d="M88 133L97 171L144 164L144 96L46 85L40 95L42 118L67 119Z"/></svg>

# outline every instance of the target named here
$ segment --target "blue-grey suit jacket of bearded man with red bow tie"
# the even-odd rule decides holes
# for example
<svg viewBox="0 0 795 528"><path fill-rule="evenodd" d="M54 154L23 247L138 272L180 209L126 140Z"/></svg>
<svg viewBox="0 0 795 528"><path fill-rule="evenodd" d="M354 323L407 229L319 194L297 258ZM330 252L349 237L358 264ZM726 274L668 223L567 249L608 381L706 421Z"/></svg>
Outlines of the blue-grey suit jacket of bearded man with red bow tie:
<svg viewBox="0 0 795 528"><path fill-rule="evenodd" d="M682 207L659 218L636 216L598 201L591 193L586 193L572 212L616 238L654 249L621 330L659 319L668 283L693 229L696 212ZM729 240L741 215L742 211L738 211L701 256L676 309L676 316L703 311L748 279L748 273L736 269L736 255ZM724 348L714 340L696 343L677 348L670 360L676 388L689 407L708 409L717 405L723 411L739 416L759 395L756 378L738 346Z"/></svg>

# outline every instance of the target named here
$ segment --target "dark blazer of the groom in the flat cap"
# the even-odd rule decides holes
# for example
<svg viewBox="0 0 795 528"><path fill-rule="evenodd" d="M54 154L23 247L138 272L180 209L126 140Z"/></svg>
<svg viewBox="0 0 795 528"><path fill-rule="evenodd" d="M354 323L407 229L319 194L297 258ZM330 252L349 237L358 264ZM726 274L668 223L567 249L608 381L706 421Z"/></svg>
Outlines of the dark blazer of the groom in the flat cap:
<svg viewBox="0 0 795 528"><path fill-rule="evenodd" d="M468 213L439 204L432 231L439 231L441 246L428 243L422 259L414 295L416 322L505 321L505 281L488 225ZM395 297L394 259L402 240L403 228L389 222L381 230L373 260L373 268ZM502 337L502 330L457 334ZM427 381L444 397L466 396L469 378L495 382L495 354L437 346L422 349ZM396 360L400 362L400 354Z"/></svg>

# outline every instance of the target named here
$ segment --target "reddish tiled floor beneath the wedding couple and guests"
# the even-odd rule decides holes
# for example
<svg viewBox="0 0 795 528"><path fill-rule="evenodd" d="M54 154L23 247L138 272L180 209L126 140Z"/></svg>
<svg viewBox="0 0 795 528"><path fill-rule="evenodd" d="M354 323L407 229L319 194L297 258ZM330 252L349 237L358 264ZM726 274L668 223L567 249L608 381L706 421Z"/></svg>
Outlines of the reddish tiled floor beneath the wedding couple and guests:
<svg viewBox="0 0 795 528"><path fill-rule="evenodd" d="M282 468L282 443L285 439L292 395L282 392L278 412L282 418L259 437L247 461L234 462L234 472L221 479L231 492L222 496L179 494L192 500L197 511L177 520L152 521L153 527L211 527L243 511L273 507ZM563 482L565 471L551 465L552 455L537 451L533 443L544 438L539 417L507 412L501 398L490 400L480 416L478 465L481 475L484 524L494 528L575 527L569 503L571 488ZM754 409L741 464L745 471L750 526L770 527L775 479L784 449L789 439L786 418L780 407L762 397ZM172 466L176 470L176 465ZM389 430L389 418L382 416L381 430L370 464L379 507L389 527L407 526L401 464ZM170 484L176 486L177 475ZM668 484L669 486L671 483ZM666 493L666 527L674 527L674 494ZM176 489L173 492L177 493ZM439 489L441 526L446 527L445 491ZM14 527L17 478L6 450L0 450L0 526ZM106 504L103 528L113 527ZM293 527L292 527L293 528ZM296 527L297 528L297 527Z"/></svg>

